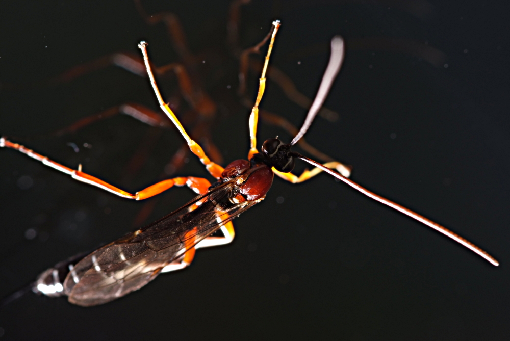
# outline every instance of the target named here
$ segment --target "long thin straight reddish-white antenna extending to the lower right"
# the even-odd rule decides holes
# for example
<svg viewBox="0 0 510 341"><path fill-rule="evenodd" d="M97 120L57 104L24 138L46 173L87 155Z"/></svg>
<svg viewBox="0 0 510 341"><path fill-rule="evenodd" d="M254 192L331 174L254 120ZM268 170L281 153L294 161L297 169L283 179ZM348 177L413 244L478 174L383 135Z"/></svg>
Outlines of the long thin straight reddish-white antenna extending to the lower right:
<svg viewBox="0 0 510 341"><path fill-rule="evenodd" d="M416 219L420 223L423 223L423 224L427 225L428 227L431 227L431 228L435 229L436 231L443 233L444 235L446 235L446 237L453 239L455 242L464 245L465 247L467 247L474 253L482 256L487 261L489 261L489 263L491 263L492 265L494 265L494 266L499 265L499 262L493 256L491 256L487 252L483 251L482 249L480 249L478 246L474 245L473 243L462 238L460 235L450 231L446 227L443 227L443 226L439 225L438 223L435 223L435 222L431 221L430 219L427 219L427 218L423 217L422 215L419 215L418 213L411 211L411 209L409 209L409 208L405 208L404 206L401 206L391 200L388 200L386 198L381 197L380 195L370 192L366 188L363 188L360 185L358 185L358 183L356 183L352 180L349 180L345 176L342 176L327 167L324 167L323 165L321 165L320 163L318 163L316 161L313 161L312 159L305 158L304 156L299 155L297 153L295 153L295 154L296 154L296 158L299 158L303 161L308 162L311 165L314 165L315 167L322 169L324 172L327 172L327 173L333 175L334 177L336 177L337 179L342 180L343 182L347 183L347 185L349 185L350 187L352 187L355 190L360 191L361 193L365 194L366 196L368 196L382 204L390 206L391 208L396 209L398 212L403 213L406 216L409 216L413 219Z"/></svg>

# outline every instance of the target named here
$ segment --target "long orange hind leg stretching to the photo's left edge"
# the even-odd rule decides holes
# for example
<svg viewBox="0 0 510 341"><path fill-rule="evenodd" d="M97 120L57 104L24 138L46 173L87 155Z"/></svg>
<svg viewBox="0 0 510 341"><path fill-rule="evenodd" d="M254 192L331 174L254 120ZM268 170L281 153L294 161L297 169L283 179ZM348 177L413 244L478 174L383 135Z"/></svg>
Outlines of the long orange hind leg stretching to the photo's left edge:
<svg viewBox="0 0 510 341"><path fill-rule="evenodd" d="M135 194L127 193L113 185L110 185L108 182L105 182L101 179L96 178L95 176L86 174L82 172L81 165L78 167L78 170L74 170L68 168L64 165L61 165L55 161L49 160L46 156L35 153L33 150L28 149L22 145L17 143L12 143L5 138L0 138L0 147L7 147L15 149L23 154L30 156L31 158L42 162L44 165L52 167L58 171L71 175L71 177L75 180L82 181L88 183L89 185L98 187L102 190L108 191L110 193L116 194L120 197L127 199L135 199L135 200L143 200L160 194L171 188L172 186L185 186L187 185L191 189L193 189L196 193L206 193L211 183L207 179L198 178L198 177L176 177L173 179L166 179L156 183L155 185L149 186L146 189L143 189Z"/></svg>

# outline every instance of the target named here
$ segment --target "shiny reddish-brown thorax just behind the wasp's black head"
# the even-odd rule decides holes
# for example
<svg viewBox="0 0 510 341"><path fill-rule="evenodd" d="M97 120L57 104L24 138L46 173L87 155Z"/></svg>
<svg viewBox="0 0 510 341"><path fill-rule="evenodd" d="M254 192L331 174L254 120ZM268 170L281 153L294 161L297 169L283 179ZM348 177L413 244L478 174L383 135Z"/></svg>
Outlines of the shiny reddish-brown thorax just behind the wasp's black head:
<svg viewBox="0 0 510 341"><path fill-rule="evenodd" d="M222 178L246 178L240 184L239 194L245 200L257 200L264 197L273 183L273 171L264 163L252 164L246 160L236 160L225 167ZM238 198L239 199L239 198ZM244 201L244 200L243 200Z"/></svg>

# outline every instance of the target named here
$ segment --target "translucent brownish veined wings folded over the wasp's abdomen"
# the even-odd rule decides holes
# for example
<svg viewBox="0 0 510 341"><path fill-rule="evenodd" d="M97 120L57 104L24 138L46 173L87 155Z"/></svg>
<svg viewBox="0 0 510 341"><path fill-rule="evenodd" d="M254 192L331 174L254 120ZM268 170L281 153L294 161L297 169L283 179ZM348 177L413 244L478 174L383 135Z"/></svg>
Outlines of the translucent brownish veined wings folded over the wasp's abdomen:
<svg viewBox="0 0 510 341"><path fill-rule="evenodd" d="M103 304L156 278L166 265L259 201L232 203L236 188L234 181L225 182L83 258L64 281L69 302Z"/></svg>

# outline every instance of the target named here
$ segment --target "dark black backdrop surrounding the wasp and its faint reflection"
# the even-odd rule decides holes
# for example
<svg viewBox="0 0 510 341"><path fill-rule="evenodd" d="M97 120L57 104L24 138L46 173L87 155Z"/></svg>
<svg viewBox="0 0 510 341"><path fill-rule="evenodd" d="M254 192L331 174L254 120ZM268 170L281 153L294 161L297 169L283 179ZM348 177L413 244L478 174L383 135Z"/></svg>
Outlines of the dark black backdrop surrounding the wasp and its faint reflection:
<svg viewBox="0 0 510 341"><path fill-rule="evenodd" d="M174 12L193 53L207 59L225 50L228 1L143 5L148 13ZM103 306L29 293L0 309L2 338L508 339L507 13L505 2L253 1L242 8L239 33L240 45L252 46L281 19L271 64L309 97L328 59L327 49L316 47L345 37L345 63L326 101L341 118L317 118L307 140L353 165L354 181L460 233L500 267L326 175L297 186L275 179L266 199L236 219L231 245L200 250L192 267ZM388 39L349 48L370 37ZM395 51L390 38L407 43ZM154 183L182 142L173 130L124 182L151 128L119 116L77 134L38 138L125 101L157 110L146 78L108 67L57 86L26 86L117 51L139 53L141 39L155 64L179 61L164 25L145 24L130 2L2 2L1 133L131 192ZM435 51L435 59L413 53L413 43ZM249 111L229 104L236 63L210 57L198 70L220 108L213 140L227 162L245 158L249 142ZM174 80L163 83L164 94L176 90ZM252 98L256 86L252 75ZM296 125L306 112L270 81L261 107ZM260 125L260 142L275 135L291 139ZM74 153L68 142L93 147ZM0 296L134 228L143 202L103 193L12 150L0 154ZM178 174L206 176L195 159ZM158 201L145 223L192 197L175 189L151 199ZM35 238L25 237L28 229Z"/></svg>

